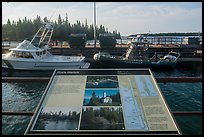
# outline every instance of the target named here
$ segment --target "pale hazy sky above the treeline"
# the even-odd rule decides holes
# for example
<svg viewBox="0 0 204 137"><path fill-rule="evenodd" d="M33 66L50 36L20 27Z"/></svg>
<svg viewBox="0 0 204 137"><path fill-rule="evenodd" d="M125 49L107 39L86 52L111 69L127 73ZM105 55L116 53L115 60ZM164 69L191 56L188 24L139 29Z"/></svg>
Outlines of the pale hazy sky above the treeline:
<svg viewBox="0 0 204 137"><path fill-rule="evenodd" d="M138 33L202 32L202 2L95 2L96 25L127 36ZM59 14L71 24L94 24L94 2L2 2L2 24L7 20L51 21Z"/></svg>

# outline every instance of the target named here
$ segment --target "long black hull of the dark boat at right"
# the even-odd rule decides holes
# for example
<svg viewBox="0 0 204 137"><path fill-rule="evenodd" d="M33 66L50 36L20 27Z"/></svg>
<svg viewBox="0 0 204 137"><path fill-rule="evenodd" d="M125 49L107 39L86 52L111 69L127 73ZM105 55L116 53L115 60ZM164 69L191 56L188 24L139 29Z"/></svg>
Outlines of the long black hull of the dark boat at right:
<svg viewBox="0 0 204 137"><path fill-rule="evenodd" d="M151 69L172 69L176 66L176 62L150 62L122 60L121 58L100 56L98 64L108 68L151 68Z"/></svg>

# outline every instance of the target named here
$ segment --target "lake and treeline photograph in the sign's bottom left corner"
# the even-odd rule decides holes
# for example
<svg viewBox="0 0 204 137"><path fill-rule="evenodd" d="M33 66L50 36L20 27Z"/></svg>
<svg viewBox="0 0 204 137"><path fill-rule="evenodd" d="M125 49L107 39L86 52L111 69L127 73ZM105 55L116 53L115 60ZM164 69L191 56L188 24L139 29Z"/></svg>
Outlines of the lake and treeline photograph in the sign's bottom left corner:
<svg viewBox="0 0 204 137"><path fill-rule="evenodd" d="M45 107L34 126L34 130L77 130L80 108Z"/></svg>

